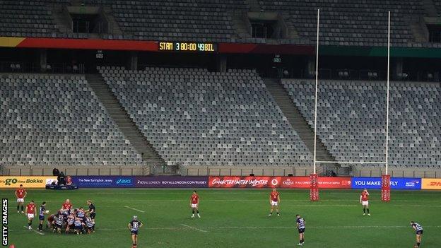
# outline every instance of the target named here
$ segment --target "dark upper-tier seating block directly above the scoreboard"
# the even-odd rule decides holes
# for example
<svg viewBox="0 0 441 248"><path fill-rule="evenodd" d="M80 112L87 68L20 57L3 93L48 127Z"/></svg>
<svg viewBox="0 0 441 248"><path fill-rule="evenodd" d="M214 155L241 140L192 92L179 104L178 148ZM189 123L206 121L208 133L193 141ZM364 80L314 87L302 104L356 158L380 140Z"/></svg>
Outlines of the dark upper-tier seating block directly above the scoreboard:
<svg viewBox="0 0 441 248"><path fill-rule="evenodd" d="M115 3L116 2L116 3ZM246 9L245 1L101 1L111 4L124 33L139 40L231 42L228 9Z"/></svg>

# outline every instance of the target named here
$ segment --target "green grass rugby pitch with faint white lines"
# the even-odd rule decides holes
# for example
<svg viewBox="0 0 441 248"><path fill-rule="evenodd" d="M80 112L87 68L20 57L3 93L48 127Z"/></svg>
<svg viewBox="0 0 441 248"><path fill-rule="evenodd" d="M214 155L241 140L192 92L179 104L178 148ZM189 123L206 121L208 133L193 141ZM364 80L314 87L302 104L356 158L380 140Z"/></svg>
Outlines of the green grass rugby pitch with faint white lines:
<svg viewBox="0 0 441 248"><path fill-rule="evenodd" d="M37 206L47 201L52 211L67 198L74 207L86 207L86 199L93 199L96 232L78 236L26 230L27 220L16 212L13 191L2 190L0 195L10 199L9 240L18 248L131 247L127 223L132 215L144 223L138 247L295 247L296 213L306 220L303 247L413 247L410 220L423 225L421 247L441 247L440 191L392 191L389 203L379 200L380 191L370 191L370 217L362 215L360 191L353 190L322 190L319 202L310 202L306 190L280 190L281 217L269 217L269 192L201 189L202 218L192 219L190 189L28 191L27 201L33 199Z"/></svg>

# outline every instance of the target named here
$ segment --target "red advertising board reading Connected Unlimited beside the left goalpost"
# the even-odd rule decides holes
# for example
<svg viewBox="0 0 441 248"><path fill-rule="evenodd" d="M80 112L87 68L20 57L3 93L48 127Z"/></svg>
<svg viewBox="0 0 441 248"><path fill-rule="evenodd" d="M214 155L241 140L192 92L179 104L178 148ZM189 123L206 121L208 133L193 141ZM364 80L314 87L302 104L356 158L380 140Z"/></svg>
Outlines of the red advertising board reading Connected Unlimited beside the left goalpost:
<svg viewBox="0 0 441 248"><path fill-rule="evenodd" d="M310 177L209 177L211 188L309 189ZM319 177L320 189L351 189L351 177Z"/></svg>

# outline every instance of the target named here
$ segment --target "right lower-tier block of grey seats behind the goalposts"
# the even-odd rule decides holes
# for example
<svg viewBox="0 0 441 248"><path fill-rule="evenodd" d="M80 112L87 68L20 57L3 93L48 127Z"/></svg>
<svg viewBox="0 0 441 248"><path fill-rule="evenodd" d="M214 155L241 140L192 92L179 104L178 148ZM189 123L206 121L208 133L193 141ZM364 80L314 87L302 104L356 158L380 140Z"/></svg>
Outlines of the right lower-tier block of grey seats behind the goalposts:
<svg viewBox="0 0 441 248"><path fill-rule="evenodd" d="M283 84L314 126L314 82ZM390 90L389 164L440 167L440 85L394 82ZM319 82L317 135L339 161L384 161L385 94L384 82Z"/></svg>

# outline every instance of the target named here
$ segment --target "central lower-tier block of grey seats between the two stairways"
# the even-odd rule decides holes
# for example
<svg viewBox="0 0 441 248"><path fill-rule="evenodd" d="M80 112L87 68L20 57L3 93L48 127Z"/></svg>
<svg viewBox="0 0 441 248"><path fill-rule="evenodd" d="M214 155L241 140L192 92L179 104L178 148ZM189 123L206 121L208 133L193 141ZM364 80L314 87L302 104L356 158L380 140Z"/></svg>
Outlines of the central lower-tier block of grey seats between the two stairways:
<svg viewBox="0 0 441 248"><path fill-rule="evenodd" d="M168 165L310 165L255 71L100 67Z"/></svg>

